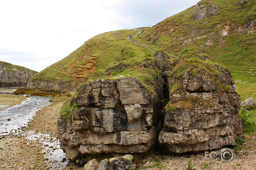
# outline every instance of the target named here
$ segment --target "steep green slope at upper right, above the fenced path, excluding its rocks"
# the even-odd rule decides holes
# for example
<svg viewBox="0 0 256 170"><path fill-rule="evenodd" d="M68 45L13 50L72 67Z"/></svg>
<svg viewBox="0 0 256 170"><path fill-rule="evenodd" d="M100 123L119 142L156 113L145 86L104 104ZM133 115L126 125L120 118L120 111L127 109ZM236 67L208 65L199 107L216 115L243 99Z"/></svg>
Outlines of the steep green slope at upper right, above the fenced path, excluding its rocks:
<svg viewBox="0 0 256 170"><path fill-rule="evenodd" d="M139 41L178 56L186 47L193 47L197 51L207 53L222 67L231 70L237 87L236 91L241 95L242 100L249 97L256 99L256 34L235 31L240 25L243 26L246 22L256 19L256 3L255 0L250 0L246 5L237 6L236 2L237 0L213 0L213 3L220 7L218 11L220 15L198 21L193 19L194 7L190 7L155 25L148 30L146 36L139 38ZM207 1L203 0L201 3L207 4ZM238 8L243 9L239 11ZM231 25L230 35L219 37L218 32L224 25ZM191 34L193 31L198 33ZM211 33L216 37L209 37ZM183 44L185 40L203 35L207 36L198 41ZM150 36L153 38L148 41ZM182 39L174 41L175 37ZM155 43L153 43L154 38L158 38ZM212 46L206 46L205 43L211 39ZM217 47L216 45L222 41L226 43Z"/></svg>

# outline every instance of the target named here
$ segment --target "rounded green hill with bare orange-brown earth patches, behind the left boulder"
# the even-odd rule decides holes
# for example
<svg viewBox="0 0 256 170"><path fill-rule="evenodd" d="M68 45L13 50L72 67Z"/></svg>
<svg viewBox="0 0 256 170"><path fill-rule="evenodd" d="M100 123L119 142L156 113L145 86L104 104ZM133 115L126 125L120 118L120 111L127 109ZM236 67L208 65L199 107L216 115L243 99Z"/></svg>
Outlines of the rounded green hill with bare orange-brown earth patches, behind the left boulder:
<svg viewBox="0 0 256 170"><path fill-rule="evenodd" d="M134 30L119 30L97 35L66 58L35 75L32 80L62 79L68 82L74 79L86 83L99 78L113 79L129 75L126 77L137 77L153 92L153 87L146 82L152 81L160 73L139 67L147 58L153 58L153 52L127 41L127 37L136 33ZM115 69L119 64L125 67Z"/></svg>

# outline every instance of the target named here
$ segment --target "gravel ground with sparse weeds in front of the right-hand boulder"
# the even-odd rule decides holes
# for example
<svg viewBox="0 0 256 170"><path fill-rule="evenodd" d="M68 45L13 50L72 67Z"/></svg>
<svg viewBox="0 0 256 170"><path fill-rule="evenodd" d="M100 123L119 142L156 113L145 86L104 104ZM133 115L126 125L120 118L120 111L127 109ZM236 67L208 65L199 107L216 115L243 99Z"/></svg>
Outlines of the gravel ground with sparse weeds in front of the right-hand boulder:
<svg viewBox="0 0 256 170"><path fill-rule="evenodd" d="M239 153L240 156L235 155L234 159L228 163L219 158L212 160L209 156L205 159L204 152L201 152L197 154L149 155L137 161L136 164L141 168L139 170L184 170L188 167L189 160L192 159L192 164L195 164L193 168L196 170L256 170L256 134L246 135L245 139L246 142L243 145L237 146L238 150L235 154ZM231 150L234 151L234 148ZM214 151L219 152L221 149Z"/></svg>

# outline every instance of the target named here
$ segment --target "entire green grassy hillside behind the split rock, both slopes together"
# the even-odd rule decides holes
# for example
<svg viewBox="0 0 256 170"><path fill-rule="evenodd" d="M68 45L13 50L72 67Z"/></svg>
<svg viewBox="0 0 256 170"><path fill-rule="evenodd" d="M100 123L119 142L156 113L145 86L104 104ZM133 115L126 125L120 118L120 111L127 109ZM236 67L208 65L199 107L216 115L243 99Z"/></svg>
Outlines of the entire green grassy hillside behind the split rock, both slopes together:
<svg viewBox="0 0 256 170"><path fill-rule="evenodd" d="M255 0L202 0L153 27L134 40L180 56L184 49L208 55L231 70L242 100L256 99L256 4ZM206 13L204 13L206 11ZM153 52L127 41L133 30L97 35L63 60L36 74L30 81L76 81L98 78L137 77L149 90L158 73L144 68ZM176 59L173 59L176 60Z"/></svg>

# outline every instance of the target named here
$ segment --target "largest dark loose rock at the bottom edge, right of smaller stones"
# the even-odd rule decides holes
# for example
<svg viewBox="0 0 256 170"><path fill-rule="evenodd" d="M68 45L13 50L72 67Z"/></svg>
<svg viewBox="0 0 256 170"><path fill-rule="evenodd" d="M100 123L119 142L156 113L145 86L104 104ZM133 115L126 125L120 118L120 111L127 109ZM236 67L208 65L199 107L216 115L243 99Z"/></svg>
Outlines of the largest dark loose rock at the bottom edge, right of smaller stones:
<svg viewBox="0 0 256 170"><path fill-rule="evenodd" d="M136 168L136 164L123 158L113 160L110 164L114 170L134 170Z"/></svg>

